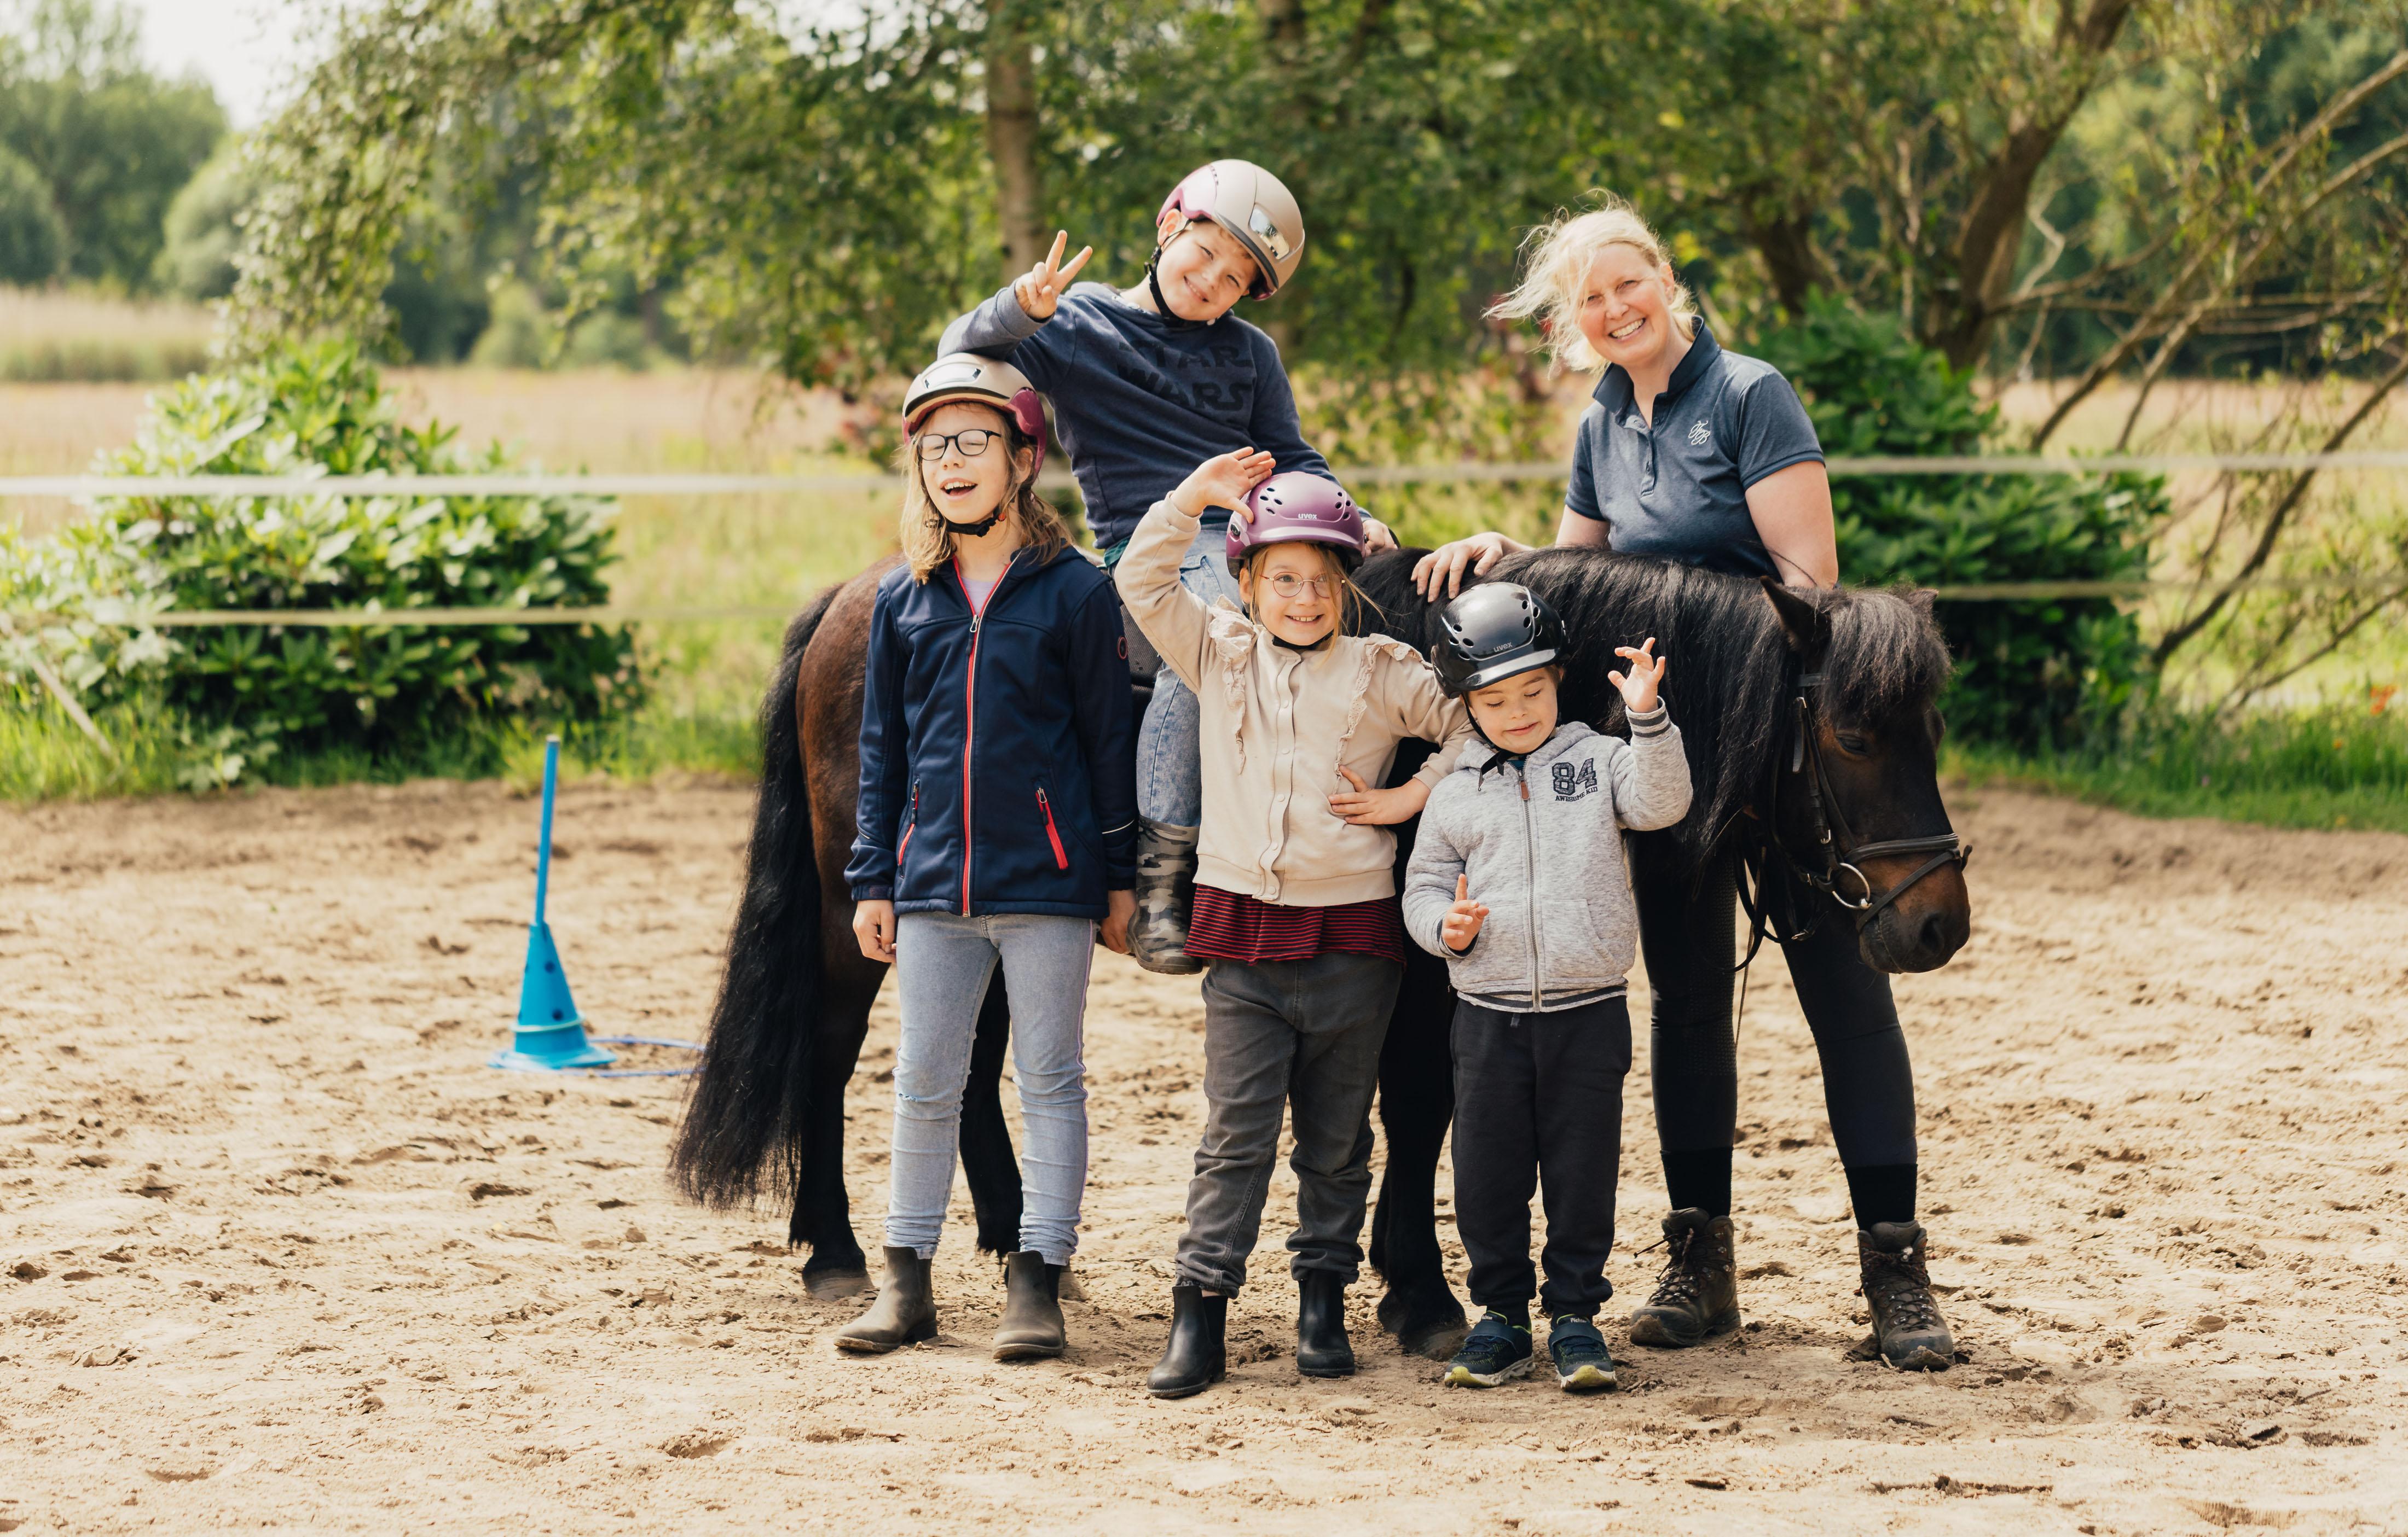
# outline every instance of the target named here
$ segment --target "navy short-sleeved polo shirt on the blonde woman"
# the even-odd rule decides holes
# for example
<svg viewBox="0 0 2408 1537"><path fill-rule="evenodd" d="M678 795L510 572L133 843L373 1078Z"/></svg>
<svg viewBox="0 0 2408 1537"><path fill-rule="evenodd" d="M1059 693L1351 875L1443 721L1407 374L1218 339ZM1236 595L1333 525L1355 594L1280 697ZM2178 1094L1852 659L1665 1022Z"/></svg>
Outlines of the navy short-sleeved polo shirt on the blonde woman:
<svg viewBox="0 0 2408 1537"><path fill-rule="evenodd" d="M1820 459L1806 404L1780 368L1722 351L1698 322L1688 356L1640 416L1630 375L1609 366L1580 416L1568 512L1601 517L1625 556L1657 556L1741 577L1782 575L1748 515L1748 486Z"/></svg>

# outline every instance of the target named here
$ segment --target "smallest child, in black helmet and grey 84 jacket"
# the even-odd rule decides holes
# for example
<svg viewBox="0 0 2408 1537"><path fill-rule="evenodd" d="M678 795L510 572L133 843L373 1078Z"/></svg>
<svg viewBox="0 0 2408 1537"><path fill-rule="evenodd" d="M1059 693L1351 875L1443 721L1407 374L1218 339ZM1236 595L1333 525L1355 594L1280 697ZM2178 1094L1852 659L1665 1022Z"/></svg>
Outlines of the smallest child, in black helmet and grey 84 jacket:
<svg viewBox="0 0 2408 1537"><path fill-rule="evenodd" d="M1447 604L1438 676L1488 748L1430 794L1404 871L1404 924L1447 957L1454 1003L1454 1224L1486 1308L1447 1381L1495 1388L1531 1369L1529 1299L1568 1393L1613 1388L1597 1308L1613 1294L1637 909L1618 827L1688 813L1681 731L1657 702L1654 640L1616 647L1630 741L1556 719L1563 623L1512 582ZM1544 914L1544 916L1541 916ZM1546 1284L1529 1263L1529 1198L1546 1188Z"/></svg>

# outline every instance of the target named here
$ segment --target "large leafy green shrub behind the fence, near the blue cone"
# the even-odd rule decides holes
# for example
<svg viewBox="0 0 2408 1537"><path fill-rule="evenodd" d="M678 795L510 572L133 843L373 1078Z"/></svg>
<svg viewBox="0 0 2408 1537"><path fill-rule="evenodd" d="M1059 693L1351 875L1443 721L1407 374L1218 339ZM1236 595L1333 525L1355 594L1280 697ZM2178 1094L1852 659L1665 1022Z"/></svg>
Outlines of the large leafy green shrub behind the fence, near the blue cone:
<svg viewBox="0 0 2408 1537"><path fill-rule="evenodd" d="M164 394L104 474L460 474L441 426L400 423L352 344L284 351ZM55 539L0 544L0 635L96 705L135 698L185 724L195 777L262 753L424 755L501 717L602 722L638 693L633 640L597 625L144 625L166 609L549 609L609 599L609 508L592 498L106 498Z"/></svg>

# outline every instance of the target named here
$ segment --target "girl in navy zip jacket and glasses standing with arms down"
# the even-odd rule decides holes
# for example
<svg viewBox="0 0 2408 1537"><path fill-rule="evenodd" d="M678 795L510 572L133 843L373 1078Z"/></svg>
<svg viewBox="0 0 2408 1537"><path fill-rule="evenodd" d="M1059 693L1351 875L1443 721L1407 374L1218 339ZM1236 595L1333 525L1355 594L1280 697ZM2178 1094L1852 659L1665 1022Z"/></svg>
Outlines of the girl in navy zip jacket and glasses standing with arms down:
<svg viewBox="0 0 2408 1537"><path fill-rule="evenodd" d="M978 1005L1002 965L1028 1147L995 1354L1057 1357L1086 1188L1086 972L1096 921L1127 950L1137 912L1120 604L1035 493L1045 411L1019 370L937 358L903 428L903 565L869 621L845 866L852 933L896 965L903 1008L886 1287L836 1342L889 1352L937 1335L929 1260Z"/></svg>

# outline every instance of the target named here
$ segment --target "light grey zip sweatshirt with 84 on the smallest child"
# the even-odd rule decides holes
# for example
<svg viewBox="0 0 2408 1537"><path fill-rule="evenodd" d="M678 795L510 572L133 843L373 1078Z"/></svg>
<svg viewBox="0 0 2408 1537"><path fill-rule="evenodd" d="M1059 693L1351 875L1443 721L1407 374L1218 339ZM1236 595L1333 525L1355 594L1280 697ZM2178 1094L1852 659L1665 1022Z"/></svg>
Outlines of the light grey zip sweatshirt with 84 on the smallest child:
<svg viewBox="0 0 2408 1537"><path fill-rule="evenodd" d="M1553 1013L1623 991L1637 955L1637 902L1623 827L1647 832L1688 815L1688 758L1662 707L1630 714L1630 741L1580 722L1527 758L1474 741L1430 791L1404 868L1404 928L1445 955L1454 991L1498 1013ZM1488 921L1469 950L1447 950L1440 924L1454 878Z"/></svg>

